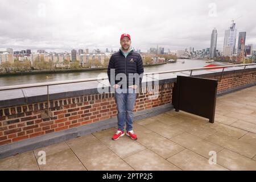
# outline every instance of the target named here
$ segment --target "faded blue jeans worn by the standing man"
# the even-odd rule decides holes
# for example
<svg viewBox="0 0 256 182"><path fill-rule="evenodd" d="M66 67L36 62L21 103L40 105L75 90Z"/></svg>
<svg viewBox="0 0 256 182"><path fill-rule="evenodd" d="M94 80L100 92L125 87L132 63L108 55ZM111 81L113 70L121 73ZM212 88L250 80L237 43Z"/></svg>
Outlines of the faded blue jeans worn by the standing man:
<svg viewBox="0 0 256 182"><path fill-rule="evenodd" d="M126 131L133 130L133 107L136 101L136 90L128 89L115 89L115 102L117 104L117 119L118 130Z"/></svg>

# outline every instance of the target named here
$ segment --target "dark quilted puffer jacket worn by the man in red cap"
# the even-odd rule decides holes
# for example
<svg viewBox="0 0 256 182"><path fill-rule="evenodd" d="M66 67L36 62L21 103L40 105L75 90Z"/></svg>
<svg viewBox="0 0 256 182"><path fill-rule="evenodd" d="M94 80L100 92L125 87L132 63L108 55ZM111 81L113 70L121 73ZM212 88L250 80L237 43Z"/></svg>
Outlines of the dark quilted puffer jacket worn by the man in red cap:
<svg viewBox="0 0 256 182"><path fill-rule="evenodd" d="M137 85L141 86L141 81L143 77L143 62L142 62L142 57L139 53L134 52L133 50L125 57L123 53L119 50L116 53L113 53L113 55L110 57L109 60L109 67L108 67L108 77L109 77L109 82L110 85L113 86L114 84L110 80L110 69L114 69L115 75L114 76L114 84L118 84L119 81L122 80L117 80L115 77L117 76L118 73L124 73L126 75L126 81L127 81L127 87L130 85ZM140 77L136 77L138 81L135 81L135 78L130 77L129 73L138 73ZM139 85L138 85L139 84ZM119 83L119 85L121 85ZM122 85L121 85L122 88Z"/></svg>

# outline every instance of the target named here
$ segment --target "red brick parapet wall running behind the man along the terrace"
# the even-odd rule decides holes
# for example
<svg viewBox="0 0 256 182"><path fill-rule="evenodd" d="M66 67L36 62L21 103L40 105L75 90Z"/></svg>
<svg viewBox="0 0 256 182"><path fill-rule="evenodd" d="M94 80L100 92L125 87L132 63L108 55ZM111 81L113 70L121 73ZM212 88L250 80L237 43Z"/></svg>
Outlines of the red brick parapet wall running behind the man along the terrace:
<svg viewBox="0 0 256 182"><path fill-rule="evenodd" d="M222 76L217 91L256 82L256 72L230 73ZM220 75L206 78L220 80ZM174 83L155 87L154 95L142 88L137 96L134 112L170 104ZM158 94L158 95L156 95ZM0 146L19 140L38 137L49 133L88 125L116 117L114 93L91 94L81 97L50 101L52 117L42 119L42 110L47 102L0 108Z"/></svg>

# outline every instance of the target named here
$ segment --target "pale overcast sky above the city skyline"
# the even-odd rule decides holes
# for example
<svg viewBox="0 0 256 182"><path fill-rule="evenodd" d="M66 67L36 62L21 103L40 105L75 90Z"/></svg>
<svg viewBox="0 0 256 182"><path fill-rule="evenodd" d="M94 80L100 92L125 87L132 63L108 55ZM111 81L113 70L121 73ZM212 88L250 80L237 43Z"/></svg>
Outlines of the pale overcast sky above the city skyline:
<svg viewBox="0 0 256 182"><path fill-rule="evenodd" d="M217 49L231 20L246 31L246 44L256 46L256 1L80 1L0 0L0 49L71 51L119 48L124 32L132 46L166 50L209 47L216 27ZM242 16L241 18L239 18Z"/></svg>

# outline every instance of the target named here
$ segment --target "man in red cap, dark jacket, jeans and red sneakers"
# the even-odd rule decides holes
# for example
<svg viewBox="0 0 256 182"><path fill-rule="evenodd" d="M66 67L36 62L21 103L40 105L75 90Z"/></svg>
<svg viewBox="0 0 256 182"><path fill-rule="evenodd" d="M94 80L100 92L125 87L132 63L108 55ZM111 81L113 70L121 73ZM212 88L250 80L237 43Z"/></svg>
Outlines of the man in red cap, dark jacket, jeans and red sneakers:
<svg viewBox="0 0 256 182"><path fill-rule="evenodd" d="M115 89L115 102L118 111L118 130L112 139L117 140L125 135L126 124L126 135L136 140L137 135L133 131L133 107L136 101L136 90L141 85L144 68L141 55L134 52L131 47L129 34L121 35L120 44L121 48L110 57L108 66L109 82Z"/></svg>

